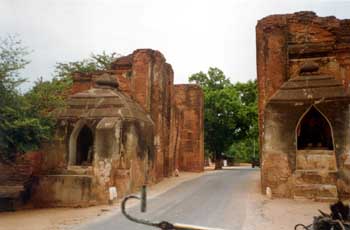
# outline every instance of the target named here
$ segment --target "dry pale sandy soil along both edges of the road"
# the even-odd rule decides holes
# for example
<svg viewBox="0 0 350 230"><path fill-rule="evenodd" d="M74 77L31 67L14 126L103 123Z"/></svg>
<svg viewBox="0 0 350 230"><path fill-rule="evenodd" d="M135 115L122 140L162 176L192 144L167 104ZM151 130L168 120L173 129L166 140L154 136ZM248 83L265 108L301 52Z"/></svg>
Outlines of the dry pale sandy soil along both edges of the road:
<svg viewBox="0 0 350 230"><path fill-rule="evenodd" d="M212 173L207 170L205 173ZM181 173L164 179L148 190L149 197L157 196L182 182L197 178L200 173ZM309 224L318 209L328 212L329 204L288 199L268 199L260 194L259 173L251 181L244 230L294 229L297 223ZM55 208L0 213L0 230L63 230L97 216L108 217L119 212L120 203L90 208ZM102 218L103 218L102 217Z"/></svg>

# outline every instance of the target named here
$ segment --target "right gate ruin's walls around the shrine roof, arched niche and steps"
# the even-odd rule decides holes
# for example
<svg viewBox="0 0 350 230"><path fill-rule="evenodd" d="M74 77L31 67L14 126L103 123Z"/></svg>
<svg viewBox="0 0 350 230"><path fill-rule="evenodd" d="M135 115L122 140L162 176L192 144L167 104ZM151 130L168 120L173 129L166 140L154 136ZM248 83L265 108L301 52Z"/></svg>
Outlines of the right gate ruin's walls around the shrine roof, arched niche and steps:
<svg viewBox="0 0 350 230"><path fill-rule="evenodd" d="M269 185L278 196L289 197L295 166L295 127L314 102L288 106L267 106L267 102L285 81L299 74L306 60L318 63L321 73L334 76L348 91L350 20L317 17L313 12L272 15L258 22L256 41L262 191ZM350 174L344 162L350 154L349 106L347 102L329 102L317 104L317 108L333 127L338 193L348 197ZM293 112L285 117L288 110Z"/></svg>

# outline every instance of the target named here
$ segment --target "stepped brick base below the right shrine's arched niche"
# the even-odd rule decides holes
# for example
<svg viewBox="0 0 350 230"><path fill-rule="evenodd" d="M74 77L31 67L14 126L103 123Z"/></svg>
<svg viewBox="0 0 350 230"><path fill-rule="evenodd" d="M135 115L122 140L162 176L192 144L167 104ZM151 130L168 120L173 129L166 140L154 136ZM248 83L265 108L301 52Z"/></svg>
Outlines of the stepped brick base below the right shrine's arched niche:
<svg viewBox="0 0 350 230"><path fill-rule="evenodd" d="M262 163L263 189L269 187L274 197L338 200L338 171L334 154L330 152L302 152L297 156L295 171L290 167L287 154L266 154Z"/></svg>

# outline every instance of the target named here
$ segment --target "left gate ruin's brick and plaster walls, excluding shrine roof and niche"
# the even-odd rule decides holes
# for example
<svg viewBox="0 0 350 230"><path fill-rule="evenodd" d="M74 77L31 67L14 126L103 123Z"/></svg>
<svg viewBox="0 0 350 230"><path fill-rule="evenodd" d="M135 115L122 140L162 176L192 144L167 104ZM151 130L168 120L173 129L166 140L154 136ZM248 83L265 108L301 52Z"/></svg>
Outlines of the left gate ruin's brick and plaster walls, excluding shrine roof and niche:
<svg viewBox="0 0 350 230"><path fill-rule="evenodd" d="M98 79L106 75L115 77L118 91L144 109L152 119L152 126L123 120L113 134L111 130L98 128L102 114L99 119L70 117L60 120L55 138L44 143L41 149L44 155L40 172L42 179L34 191L38 196L33 197L37 206L82 206L106 202L110 186L116 186L118 197L123 197L145 182L155 183L164 176L172 176L175 169L203 170L204 103L203 92L198 86L178 87L179 100L175 102L177 95L171 65L159 51L140 49L118 58L112 63L111 70L75 73L71 94L95 88ZM72 132L82 121L95 136L94 159L91 166L75 167L69 163L69 146ZM176 132L178 125L182 125L181 132ZM119 134L118 129L121 130ZM113 143L111 137L120 140L119 145ZM105 138L108 138L107 142L103 141ZM104 152L105 146L112 146L110 150L113 151ZM69 175L75 176L74 180ZM60 189L66 185L68 190ZM67 191L75 194L72 199L67 198ZM42 197L42 193L52 195Z"/></svg>

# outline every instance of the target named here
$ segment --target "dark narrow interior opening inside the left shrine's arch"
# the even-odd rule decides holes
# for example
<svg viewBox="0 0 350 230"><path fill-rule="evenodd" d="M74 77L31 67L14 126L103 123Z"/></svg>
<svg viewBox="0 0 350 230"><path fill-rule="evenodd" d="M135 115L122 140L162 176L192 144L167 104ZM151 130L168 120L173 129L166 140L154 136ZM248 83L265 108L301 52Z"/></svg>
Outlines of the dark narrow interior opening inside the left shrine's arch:
<svg viewBox="0 0 350 230"><path fill-rule="evenodd" d="M89 127L84 126L77 139L76 165L91 165L93 158L94 138Z"/></svg>

